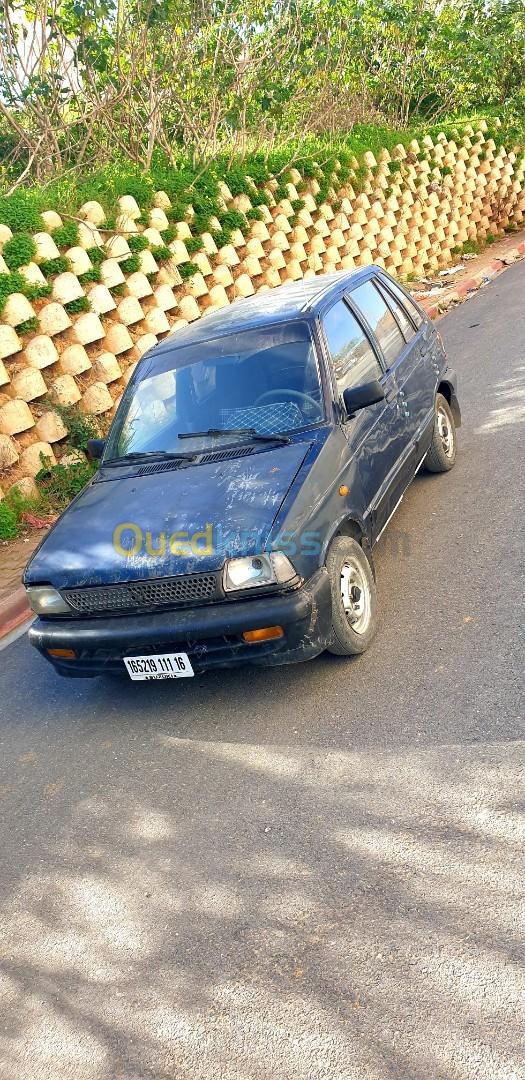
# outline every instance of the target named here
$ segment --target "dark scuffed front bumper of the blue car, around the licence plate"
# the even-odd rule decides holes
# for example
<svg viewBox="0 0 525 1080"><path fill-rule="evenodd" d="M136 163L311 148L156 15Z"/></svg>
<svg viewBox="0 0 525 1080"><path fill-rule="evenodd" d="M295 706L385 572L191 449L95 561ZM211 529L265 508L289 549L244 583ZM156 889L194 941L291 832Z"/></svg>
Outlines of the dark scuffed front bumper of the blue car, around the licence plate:
<svg viewBox="0 0 525 1080"><path fill-rule="evenodd" d="M245 630L279 625L283 637L247 644ZM124 674L123 657L187 652L196 672L235 664L275 665L310 660L329 644L332 595L327 571L279 595L133 616L36 619L29 640L60 675ZM48 649L75 649L57 660Z"/></svg>

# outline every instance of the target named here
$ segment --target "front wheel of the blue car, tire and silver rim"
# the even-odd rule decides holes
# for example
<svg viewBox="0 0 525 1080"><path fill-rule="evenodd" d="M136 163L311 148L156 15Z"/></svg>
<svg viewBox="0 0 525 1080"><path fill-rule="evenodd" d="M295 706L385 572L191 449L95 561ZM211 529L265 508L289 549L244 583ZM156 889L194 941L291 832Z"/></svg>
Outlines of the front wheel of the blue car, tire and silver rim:
<svg viewBox="0 0 525 1080"><path fill-rule="evenodd" d="M328 652L358 657L366 651L377 629L377 594L371 564L356 540L336 537L326 556L326 569L332 585Z"/></svg>

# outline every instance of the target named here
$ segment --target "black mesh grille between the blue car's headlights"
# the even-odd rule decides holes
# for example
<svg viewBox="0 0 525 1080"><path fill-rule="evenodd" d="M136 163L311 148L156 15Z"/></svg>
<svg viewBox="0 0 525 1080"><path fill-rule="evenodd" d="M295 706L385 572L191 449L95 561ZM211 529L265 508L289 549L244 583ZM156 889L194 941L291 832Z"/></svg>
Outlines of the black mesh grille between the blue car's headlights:
<svg viewBox="0 0 525 1080"><path fill-rule="evenodd" d="M205 604L219 599L223 594L217 573L192 573L151 581L126 581L96 589L65 589L62 595L78 615L102 615Z"/></svg>

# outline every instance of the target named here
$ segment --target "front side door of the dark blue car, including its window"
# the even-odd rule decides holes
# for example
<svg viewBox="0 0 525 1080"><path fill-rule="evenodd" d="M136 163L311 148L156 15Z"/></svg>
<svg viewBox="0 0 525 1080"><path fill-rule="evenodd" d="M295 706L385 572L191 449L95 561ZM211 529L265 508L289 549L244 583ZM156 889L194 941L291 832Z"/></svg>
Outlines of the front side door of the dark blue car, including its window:
<svg viewBox="0 0 525 1080"><path fill-rule="evenodd" d="M383 384L387 394L387 400L342 420L348 442L349 484L358 478L363 519L374 540L390 513L385 498L386 477L395 473L399 456L395 379L386 374L374 338L345 299L337 300L325 312L322 329L339 400L347 388L373 379ZM341 415L345 416L342 408Z"/></svg>

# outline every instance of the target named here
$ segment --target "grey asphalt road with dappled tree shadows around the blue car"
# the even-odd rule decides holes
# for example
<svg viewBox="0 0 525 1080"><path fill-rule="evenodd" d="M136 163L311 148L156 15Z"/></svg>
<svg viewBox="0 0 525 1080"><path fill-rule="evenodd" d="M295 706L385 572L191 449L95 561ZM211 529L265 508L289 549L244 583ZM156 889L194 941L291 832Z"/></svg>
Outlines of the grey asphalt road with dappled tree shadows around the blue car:
<svg viewBox="0 0 525 1080"><path fill-rule="evenodd" d="M525 265L441 324L463 428L359 660L0 653L2 1080L525 1076Z"/></svg>

